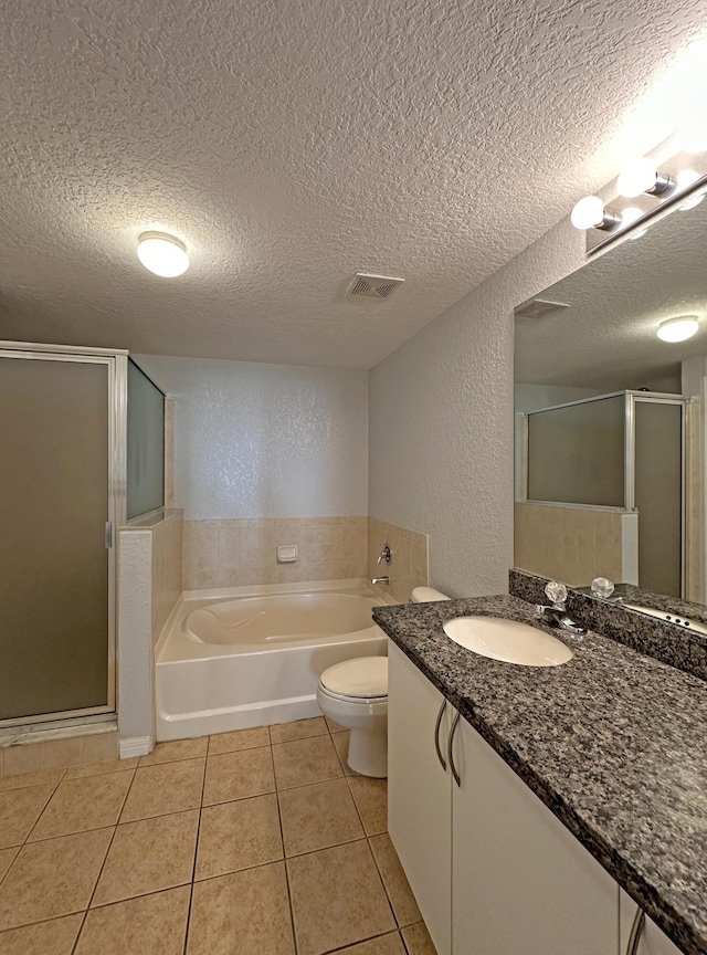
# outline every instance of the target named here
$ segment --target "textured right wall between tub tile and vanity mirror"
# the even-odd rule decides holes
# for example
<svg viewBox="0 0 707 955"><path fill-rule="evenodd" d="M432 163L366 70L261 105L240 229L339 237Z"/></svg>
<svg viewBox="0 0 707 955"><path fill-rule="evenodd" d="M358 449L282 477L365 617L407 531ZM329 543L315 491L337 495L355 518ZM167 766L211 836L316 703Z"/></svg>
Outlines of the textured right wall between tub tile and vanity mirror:
<svg viewBox="0 0 707 955"><path fill-rule="evenodd" d="M584 262L563 220L370 372L369 513L430 535L430 585L505 592L514 306Z"/></svg>

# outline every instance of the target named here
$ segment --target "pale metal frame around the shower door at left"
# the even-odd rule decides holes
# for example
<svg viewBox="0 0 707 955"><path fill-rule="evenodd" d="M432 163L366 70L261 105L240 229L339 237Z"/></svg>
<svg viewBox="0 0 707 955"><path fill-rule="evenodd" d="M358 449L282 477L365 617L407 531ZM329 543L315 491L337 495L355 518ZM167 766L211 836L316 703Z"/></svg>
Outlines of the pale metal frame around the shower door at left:
<svg viewBox="0 0 707 955"><path fill-rule="evenodd" d="M128 353L116 348L85 348L71 345L39 345L27 342L0 342L0 358L32 361L67 361L77 365L104 365L108 375L108 460L107 520L110 543L108 552L108 665L106 703L80 710L64 710L0 720L0 738L31 730L53 730L72 724L85 725L115 720L117 713L117 532L127 514L127 376Z"/></svg>

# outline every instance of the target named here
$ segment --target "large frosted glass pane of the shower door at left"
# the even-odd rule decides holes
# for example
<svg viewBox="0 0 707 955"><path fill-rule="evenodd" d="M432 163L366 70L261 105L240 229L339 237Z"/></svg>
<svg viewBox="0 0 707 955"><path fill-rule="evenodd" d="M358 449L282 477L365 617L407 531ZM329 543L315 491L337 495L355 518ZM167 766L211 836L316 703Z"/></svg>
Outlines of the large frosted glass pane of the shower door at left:
<svg viewBox="0 0 707 955"><path fill-rule="evenodd" d="M109 703L108 374L0 357L0 720Z"/></svg>

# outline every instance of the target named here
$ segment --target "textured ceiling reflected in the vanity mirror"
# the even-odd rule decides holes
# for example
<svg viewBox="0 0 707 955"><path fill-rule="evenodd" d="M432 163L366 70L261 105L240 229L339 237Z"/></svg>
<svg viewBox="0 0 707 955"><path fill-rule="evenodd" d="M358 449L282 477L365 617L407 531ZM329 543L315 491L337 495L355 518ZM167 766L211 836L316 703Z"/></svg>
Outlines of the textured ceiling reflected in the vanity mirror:
<svg viewBox="0 0 707 955"><path fill-rule="evenodd" d="M707 356L707 198L674 211L540 293L570 307L516 318L516 380L600 391L680 387L679 363ZM697 315L688 342L667 344L662 321Z"/></svg>

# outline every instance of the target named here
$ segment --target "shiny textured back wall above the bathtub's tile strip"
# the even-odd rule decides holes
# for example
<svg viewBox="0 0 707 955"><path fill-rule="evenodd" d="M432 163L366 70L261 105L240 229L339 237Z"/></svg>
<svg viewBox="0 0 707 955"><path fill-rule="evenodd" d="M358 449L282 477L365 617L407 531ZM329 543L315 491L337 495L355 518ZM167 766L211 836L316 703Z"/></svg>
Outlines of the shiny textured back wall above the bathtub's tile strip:
<svg viewBox="0 0 707 955"><path fill-rule="evenodd" d="M365 371L139 356L175 398L188 521L368 513Z"/></svg>

